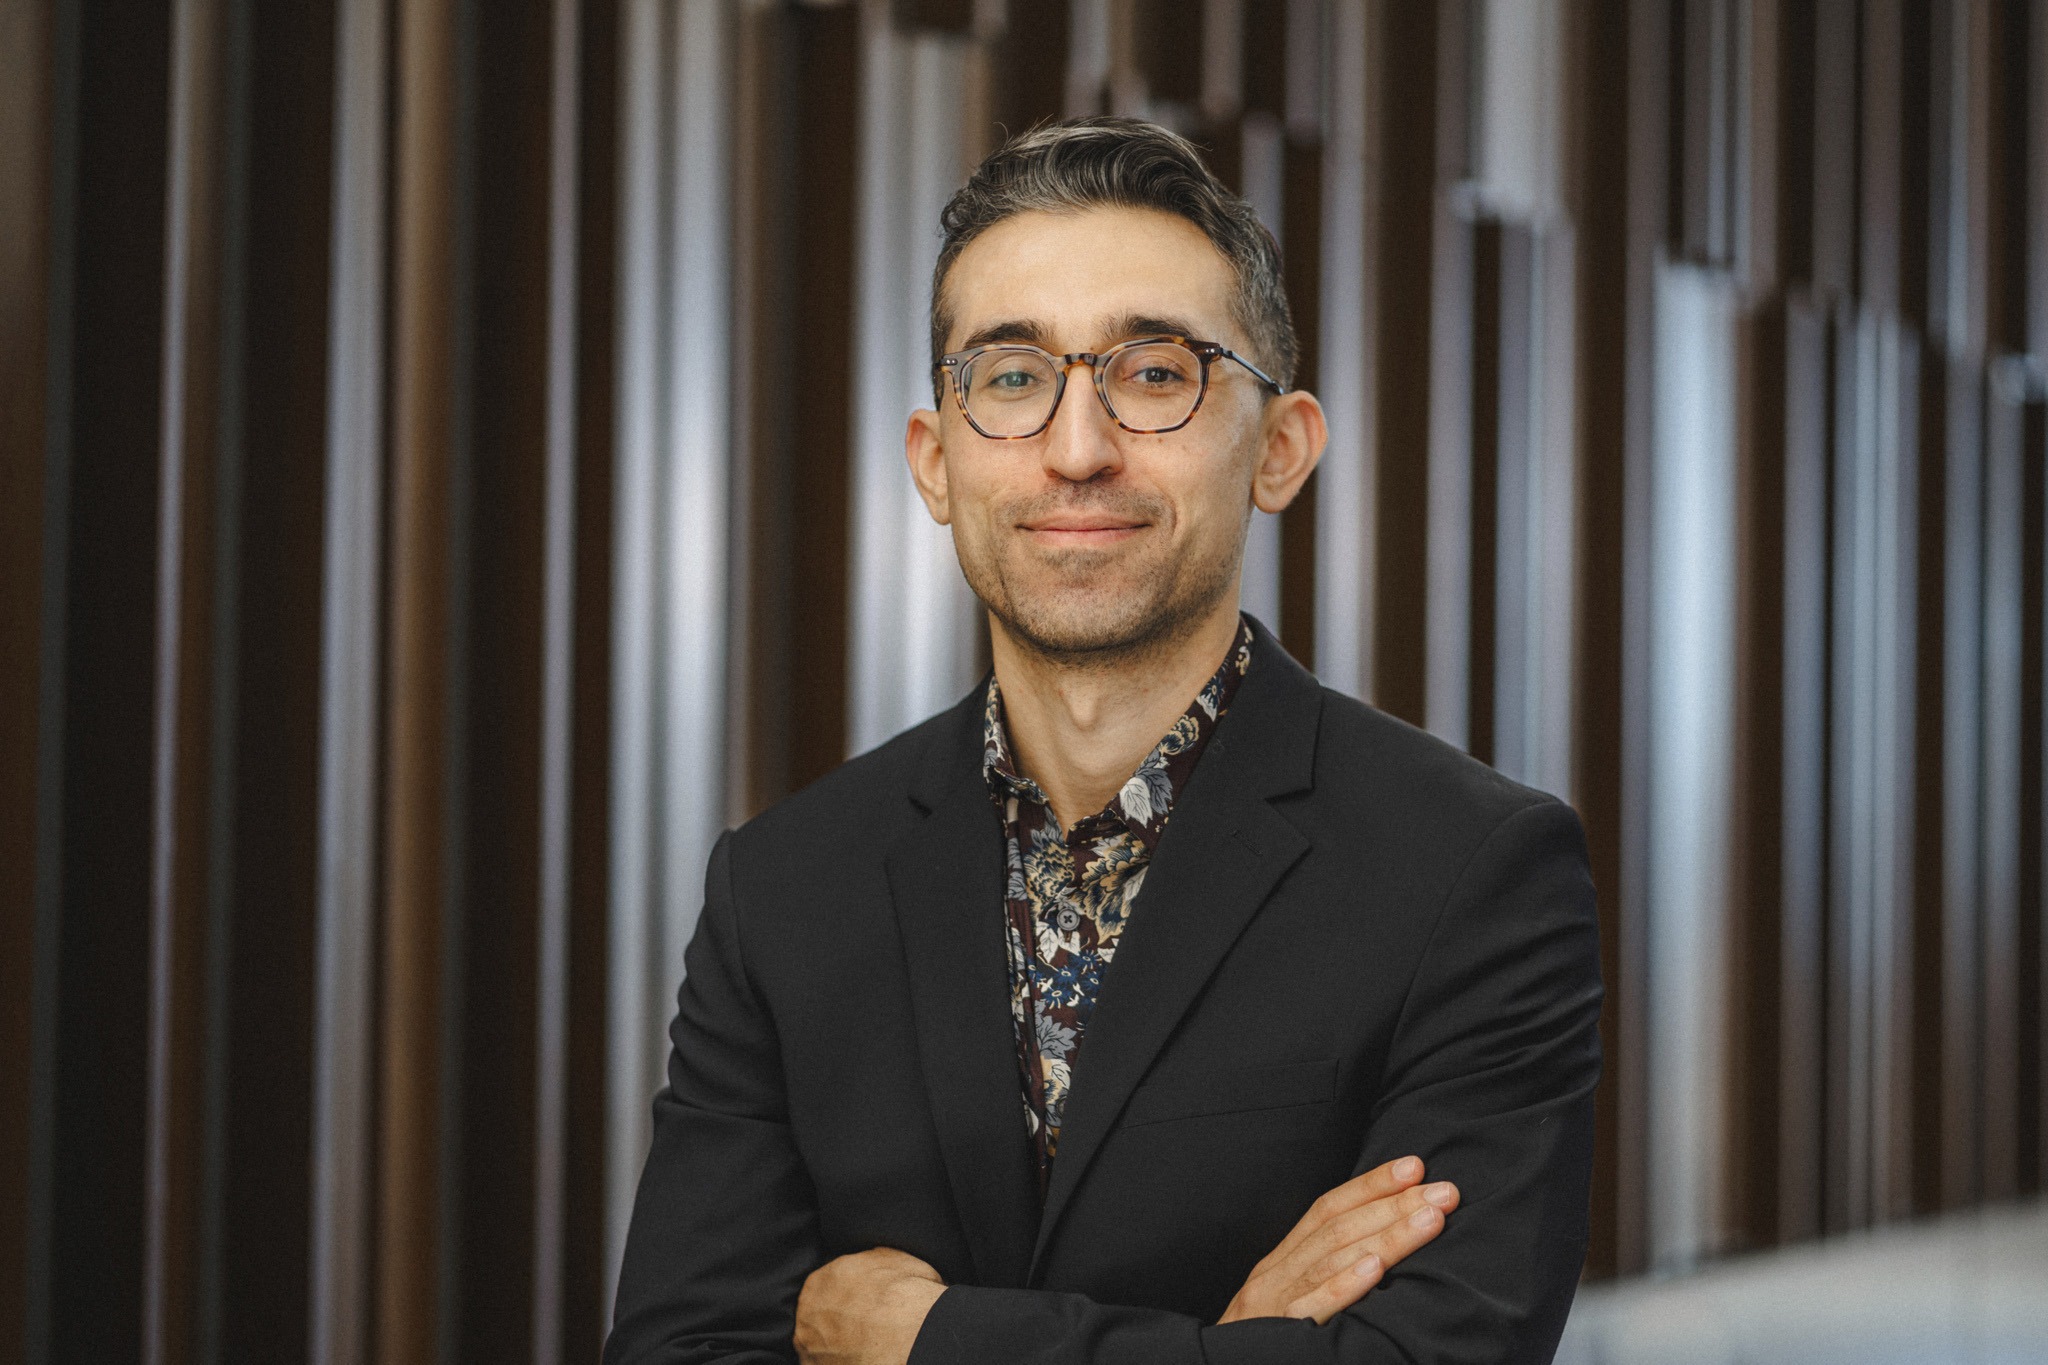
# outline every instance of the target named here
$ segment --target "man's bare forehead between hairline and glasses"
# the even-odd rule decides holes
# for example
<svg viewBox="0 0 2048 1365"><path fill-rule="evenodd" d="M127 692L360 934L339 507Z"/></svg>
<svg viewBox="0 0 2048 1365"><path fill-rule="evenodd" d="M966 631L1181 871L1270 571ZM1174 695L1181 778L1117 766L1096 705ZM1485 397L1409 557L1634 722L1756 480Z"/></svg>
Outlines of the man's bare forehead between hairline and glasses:
<svg viewBox="0 0 2048 1365"><path fill-rule="evenodd" d="M1237 276L1202 229L1157 209L1020 213L967 244L946 274L948 346L1030 319L1069 350L1102 346L1108 317L1182 317L1235 342Z"/></svg>

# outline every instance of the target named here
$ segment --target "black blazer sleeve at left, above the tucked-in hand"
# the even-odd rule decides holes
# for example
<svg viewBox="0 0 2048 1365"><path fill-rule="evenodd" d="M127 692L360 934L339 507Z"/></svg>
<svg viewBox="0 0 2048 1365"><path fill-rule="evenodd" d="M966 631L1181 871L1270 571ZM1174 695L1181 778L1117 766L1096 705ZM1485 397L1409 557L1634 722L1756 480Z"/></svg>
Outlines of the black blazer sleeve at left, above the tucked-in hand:
<svg viewBox="0 0 2048 1365"><path fill-rule="evenodd" d="M670 1040L604 1365L793 1361L797 1293L823 1259L817 1195L741 960L731 833L705 874Z"/></svg>

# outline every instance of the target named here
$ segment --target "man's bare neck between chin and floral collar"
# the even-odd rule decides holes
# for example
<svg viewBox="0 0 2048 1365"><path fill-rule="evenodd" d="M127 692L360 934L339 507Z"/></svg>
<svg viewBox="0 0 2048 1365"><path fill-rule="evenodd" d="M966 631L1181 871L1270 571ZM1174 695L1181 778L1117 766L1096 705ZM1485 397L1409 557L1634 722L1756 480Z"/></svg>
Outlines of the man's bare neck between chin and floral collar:
<svg viewBox="0 0 2048 1365"><path fill-rule="evenodd" d="M1053 802L1061 829L1110 802L1235 639L1235 591L1180 639L1108 665L1049 659L989 618L1010 747L1020 772Z"/></svg>

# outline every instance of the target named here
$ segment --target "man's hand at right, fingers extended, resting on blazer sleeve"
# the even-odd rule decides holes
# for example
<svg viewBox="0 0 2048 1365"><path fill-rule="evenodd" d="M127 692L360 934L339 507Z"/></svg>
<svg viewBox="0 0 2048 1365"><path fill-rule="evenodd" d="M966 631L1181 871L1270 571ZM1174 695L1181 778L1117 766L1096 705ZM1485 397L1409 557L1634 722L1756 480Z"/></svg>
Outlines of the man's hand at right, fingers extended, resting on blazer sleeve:
<svg viewBox="0 0 2048 1365"><path fill-rule="evenodd" d="M1401 1156L1337 1185L1251 1267L1219 1322L1315 1318L1321 1326L1366 1297L1389 1267L1425 1246L1458 1207L1450 1181L1417 1187L1421 1160Z"/></svg>

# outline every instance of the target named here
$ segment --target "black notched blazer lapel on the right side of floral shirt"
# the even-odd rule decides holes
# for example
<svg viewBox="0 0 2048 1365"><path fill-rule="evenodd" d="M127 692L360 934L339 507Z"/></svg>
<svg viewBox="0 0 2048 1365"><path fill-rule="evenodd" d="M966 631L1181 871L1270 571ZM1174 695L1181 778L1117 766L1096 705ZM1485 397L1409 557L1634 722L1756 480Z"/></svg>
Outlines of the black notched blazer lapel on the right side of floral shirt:
<svg viewBox="0 0 2048 1365"><path fill-rule="evenodd" d="M1309 849L1266 798L1311 784L1321 692L1264 626L1253 622L1253 632L1251 671L1174 804L1102 980L1038 1218L1032 1283L1130 1093L1245 925Z"/></svg>

